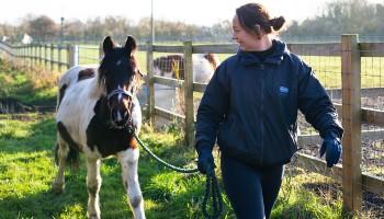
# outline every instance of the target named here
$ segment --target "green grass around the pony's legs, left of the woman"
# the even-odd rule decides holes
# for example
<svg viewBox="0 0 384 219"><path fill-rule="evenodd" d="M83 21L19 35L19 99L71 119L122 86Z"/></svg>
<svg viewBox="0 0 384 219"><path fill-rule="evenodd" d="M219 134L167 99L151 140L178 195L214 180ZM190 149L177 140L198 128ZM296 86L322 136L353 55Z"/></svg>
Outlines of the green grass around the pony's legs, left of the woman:
<svg viewBox="0 0 384 219"><path fill-rule="evenodd" d="M87 189L83 164L79 171L66 173L64 194L54 195L50 192L56 174L52 153L55 142L53 116L27 115L24 120L2 116L0 122L0 218L84 218ZM185 160L193 162L193 153L176 145L179 142L177 136L158 135L150 128L145 129L143 140L151 145L159 155L172 159L180 165L188 164ZM148 218L201 218L202 176L166 170L146 153L142 154L139 166ZM127 218L131 211L116 159L105 159L101 174L103 217Z"/></svg>

